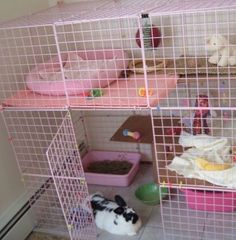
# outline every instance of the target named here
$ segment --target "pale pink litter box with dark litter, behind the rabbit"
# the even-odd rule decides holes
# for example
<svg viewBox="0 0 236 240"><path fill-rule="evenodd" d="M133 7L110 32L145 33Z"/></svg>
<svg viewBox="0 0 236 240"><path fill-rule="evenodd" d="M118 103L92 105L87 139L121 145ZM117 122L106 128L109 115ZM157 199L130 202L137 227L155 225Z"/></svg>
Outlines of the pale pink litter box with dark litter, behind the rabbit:
<svg viewBox="0 0 236 240"><path fill-rule="evenodd" d="M82 159L85 169L85 179L89 184L106 186L129 186L139 170L141 154L131 152L90 151ZM86 168L93 161L120 160L132 163L132 168L125 175L102 174L86 172Z"/></svg>

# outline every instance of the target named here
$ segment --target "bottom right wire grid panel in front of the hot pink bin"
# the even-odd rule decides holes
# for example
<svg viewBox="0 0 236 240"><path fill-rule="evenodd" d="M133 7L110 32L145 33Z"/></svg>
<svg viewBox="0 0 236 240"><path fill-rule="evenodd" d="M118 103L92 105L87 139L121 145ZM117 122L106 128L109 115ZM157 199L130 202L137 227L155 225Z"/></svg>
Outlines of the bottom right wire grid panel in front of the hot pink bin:
<svg viewBox="0 0 236 240"><path fill-rule="evenodd" d="M170 188L161 202L166 239L235 239L235 191Z"/></svg>

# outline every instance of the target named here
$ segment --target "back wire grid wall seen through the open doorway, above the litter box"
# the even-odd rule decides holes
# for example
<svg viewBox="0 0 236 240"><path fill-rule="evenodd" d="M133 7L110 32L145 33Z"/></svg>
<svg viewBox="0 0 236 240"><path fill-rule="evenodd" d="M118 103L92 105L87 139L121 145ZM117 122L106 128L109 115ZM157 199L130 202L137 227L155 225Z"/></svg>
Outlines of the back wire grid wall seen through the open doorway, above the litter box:
<svg viewBox="0 0 236 240"><path fill-rule="evenodd" d="M81 154L90 150L142 153L142 161L153 161L151 144L122 142L112 139L121 125L134 115L147 116L150 111L98 110L72 111L72 119ZM137 129L138 131L139 129Z"/></svg>

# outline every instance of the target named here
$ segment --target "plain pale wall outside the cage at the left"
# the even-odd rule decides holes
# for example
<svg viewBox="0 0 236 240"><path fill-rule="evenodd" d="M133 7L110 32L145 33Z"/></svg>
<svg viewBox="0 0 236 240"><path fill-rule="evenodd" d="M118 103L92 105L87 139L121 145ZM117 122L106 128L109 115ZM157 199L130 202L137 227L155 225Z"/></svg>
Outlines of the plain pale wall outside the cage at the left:
<svg viewBox="0 0 236 240"><path fill-rule="evenodd" d="M0 22L48 8L47 0L0 0ZM0 226L14 214L14 205L25 195L8 134L0 116ZM17 209L15 209L17 211Z"/></svg>

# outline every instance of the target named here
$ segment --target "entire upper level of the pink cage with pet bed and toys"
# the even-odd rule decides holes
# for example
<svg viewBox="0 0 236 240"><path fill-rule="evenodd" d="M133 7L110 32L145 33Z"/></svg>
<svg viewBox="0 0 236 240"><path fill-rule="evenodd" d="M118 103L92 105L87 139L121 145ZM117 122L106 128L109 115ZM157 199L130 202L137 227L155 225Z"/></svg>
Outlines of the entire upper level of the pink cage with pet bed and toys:
<svg viewBox="0 0 236 240"><path fill-rule="evenodd" d="M148 13L148 14L146 14ZM236 67L209 61L209 36L236 43L234 1L62 4L0 26L0 101L27 108L236 106Z"/></svg>

